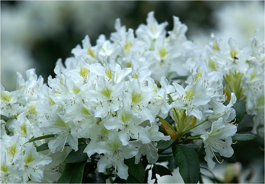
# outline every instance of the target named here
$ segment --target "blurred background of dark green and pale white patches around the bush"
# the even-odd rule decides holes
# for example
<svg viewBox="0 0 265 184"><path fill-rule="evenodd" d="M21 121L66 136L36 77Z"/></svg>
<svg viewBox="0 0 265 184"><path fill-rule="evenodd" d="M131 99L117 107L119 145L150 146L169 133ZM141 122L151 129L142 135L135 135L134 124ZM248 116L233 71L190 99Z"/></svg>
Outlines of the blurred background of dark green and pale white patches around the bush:
<svg viewBox="0 0 265 184"><path fill-rule="evenodd" d="M8 91L15 90L16 72L25 78L27 69L36 68L47 82L49 75L54 77L57 59L72 56L71 49L86 34L95 45L100 34L108 39L115 31L116 18L135 30L146 24L149 11L155 11L159 23L169 22L167 30L172 30L172 16L180 17L188 26L187 38L201 49L211 33L223 40L222 47L230 37L241 49L250 45L256 29L260 29L257 39L264 40L264 1L1 1L0 7L1 84ZM245 122L251 119L244 117ZM214 174L226 183L264 183L264 137L233 148L230 164L217 164ZM158 181L182 183L177 170L174 174Z"/></svg>

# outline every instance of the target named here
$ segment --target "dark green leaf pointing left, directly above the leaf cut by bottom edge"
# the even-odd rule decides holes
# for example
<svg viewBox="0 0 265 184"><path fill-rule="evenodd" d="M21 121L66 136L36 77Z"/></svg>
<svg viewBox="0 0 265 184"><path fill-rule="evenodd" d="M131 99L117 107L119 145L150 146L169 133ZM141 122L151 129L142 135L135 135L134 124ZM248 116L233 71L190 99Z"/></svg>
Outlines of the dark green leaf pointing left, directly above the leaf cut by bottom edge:
<svg viewBox="0 0 265 184"><path fill-rule="evenodd" d="M83 160L88 159L87 153L83 153L85 147L87 145L81 145L78 146L78 150L75 152L75 150L72 150L66 157L66 159L63 161L63 163L76 163L81 162Z"/></svg>

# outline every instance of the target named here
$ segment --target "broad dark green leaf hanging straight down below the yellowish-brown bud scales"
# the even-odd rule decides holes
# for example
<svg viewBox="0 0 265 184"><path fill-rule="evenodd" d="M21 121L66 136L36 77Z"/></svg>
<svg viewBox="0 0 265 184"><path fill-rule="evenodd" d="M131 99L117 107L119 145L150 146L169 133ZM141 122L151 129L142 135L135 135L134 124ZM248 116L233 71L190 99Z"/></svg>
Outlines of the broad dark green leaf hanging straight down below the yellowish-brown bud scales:
<svg viewBox="0 0 265 184"><path fill-rule="evenodd" d="M172 152L184 183L198 183L200 162L197 153L183 145L173 145Z"/></svg>

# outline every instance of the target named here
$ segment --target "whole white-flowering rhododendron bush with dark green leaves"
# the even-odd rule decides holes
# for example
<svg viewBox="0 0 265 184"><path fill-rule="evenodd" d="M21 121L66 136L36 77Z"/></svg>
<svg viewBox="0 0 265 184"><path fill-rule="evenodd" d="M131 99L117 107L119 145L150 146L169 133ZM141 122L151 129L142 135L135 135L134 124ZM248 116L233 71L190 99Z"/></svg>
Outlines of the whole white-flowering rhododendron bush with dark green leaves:
<svg viewBox="0 0 265 184"><path fill-rule="evenodd" d="M214 34L199 49L178 17L172 31L153 11L146 21L134 31L116 19L96 45L85 36L48 84L29 69L15 91L1 85L1 183L147 183L149 171L157 183L171 158L198 183L200 158L211 171L232 144L264 137L259 30L243 49ZM254 135L238 129L246 113Z"/></svg>

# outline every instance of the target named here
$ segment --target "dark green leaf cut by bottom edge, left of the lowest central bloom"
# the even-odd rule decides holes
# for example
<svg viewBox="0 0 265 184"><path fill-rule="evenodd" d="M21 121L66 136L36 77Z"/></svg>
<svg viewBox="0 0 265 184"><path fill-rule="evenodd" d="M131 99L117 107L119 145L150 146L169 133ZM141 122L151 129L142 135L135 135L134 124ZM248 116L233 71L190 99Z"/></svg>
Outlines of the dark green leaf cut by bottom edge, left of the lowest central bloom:
<svg viewBox="0 0 265 184"><path fill-rule="evenodd" d="M86 160L78 163L66 163L63 174L57 183L82 183Z"/></svg>

